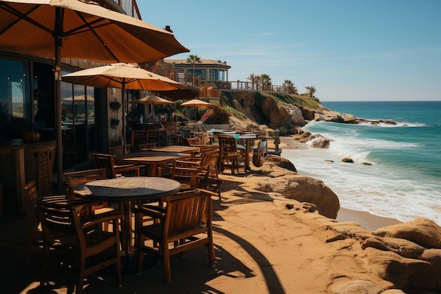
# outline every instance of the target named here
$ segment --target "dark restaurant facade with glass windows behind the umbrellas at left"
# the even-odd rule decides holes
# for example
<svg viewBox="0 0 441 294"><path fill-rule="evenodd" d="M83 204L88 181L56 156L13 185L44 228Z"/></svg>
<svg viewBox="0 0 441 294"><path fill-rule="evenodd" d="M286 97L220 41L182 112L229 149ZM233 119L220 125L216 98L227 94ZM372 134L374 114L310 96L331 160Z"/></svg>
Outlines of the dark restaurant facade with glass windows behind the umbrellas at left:
<svg viewBox="0 0 441 294"><path fill-rule="evenodd" d="M136 1L132 0L118 1L118 4L114 1L99 3L113 11L127 11L128 15L137 11L133 8ZM161 60L154 63L161 63ZM61 58L59 75L105 64ZM149 66L149 63L142 66ZM59 145L56 140L59 130L56 84L54 59L13 50L0 51L0 216L4 212L23 212L23 187L30 180L37 181L42 195L49 194L55 181L53 175L59 178L61 172L82 169L83 164L93 160L93 152L106 152L109 146L130 140L130 133L126 138L121 137L123 111L113 110L109 103L123 101L120 89L61 81L62 142ZM126 101L149 94L154 93L125 90ZM149 106L131 107L127 125L142 114L148 115L149 111ZM120 123L111 125L112 118ZM58 171L57 146L62 146L62 171Z"/></svg>

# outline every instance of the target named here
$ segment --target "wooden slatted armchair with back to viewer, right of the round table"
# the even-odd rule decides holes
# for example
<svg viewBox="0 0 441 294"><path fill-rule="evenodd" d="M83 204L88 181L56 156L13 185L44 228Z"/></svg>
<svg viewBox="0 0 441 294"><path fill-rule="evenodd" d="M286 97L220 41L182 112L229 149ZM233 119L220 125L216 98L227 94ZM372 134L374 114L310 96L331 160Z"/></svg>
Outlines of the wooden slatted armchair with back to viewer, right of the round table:
<svg viewBox="0 0 441 294"><path fill-rule="evenodd" d="M208 247L209 264L214 267L215 257L211 228L212 194L206 190L185 190L173 196L163 197L165 207L144 205L134 209L137 218L135 231L139 235L137 243L138 271L142 269L144 252L159 255L163 260L166 281L170 283L170 255L185 252L201 245ZM142 223L143 216L150 216L158 219L159 222L144 225ZM159 246L154 246L155 243L158 243ZM173 247L169 245L173 245Z"/></svg>

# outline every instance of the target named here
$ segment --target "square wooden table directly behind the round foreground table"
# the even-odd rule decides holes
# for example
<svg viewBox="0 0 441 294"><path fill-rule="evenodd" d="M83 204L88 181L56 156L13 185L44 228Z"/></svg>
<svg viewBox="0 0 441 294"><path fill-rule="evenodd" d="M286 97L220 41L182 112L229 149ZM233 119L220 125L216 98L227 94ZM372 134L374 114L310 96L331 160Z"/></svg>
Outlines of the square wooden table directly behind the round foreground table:
<svg viewBox="0 0 441 294"><path fill-rule="evenodd" d="M116 164L143 164L149 166L149 176L156 176L158 164L173 163L176 159L191 158L192 154L164 151L142 151L113 157Z"/></svg>

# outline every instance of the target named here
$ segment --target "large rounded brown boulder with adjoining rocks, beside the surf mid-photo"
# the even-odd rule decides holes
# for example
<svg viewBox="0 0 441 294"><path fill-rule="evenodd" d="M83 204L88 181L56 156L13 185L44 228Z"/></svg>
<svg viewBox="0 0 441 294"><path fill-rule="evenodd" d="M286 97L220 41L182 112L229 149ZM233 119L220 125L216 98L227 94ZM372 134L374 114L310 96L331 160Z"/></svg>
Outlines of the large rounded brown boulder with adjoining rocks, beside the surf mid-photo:
<svg viewBox="0 0 441 294"><path fill-rule="evenodd" d="M257 173L271 176L259 183L262 192L273 192L287 199L314 204L318 213L335 219L340 209L337 195L321 180L297 174L291 161L275 155L265 157L263 165L254 168Z"/></svg>

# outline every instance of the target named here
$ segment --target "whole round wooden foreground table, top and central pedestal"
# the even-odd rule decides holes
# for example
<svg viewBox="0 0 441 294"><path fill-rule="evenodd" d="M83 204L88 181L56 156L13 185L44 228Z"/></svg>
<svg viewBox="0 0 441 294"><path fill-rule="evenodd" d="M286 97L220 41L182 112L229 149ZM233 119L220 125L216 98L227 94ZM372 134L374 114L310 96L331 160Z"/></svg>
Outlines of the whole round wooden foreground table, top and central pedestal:
<svg viewBox="0 0 441 294"><path fill-rule="evenodd" d="M133 256L132 203L156 201L180 190L176 180L157 177L122 177L107 180L93 180L77 185L73 195L99 202L123 203L122 240L129 257Z"/></svg>

